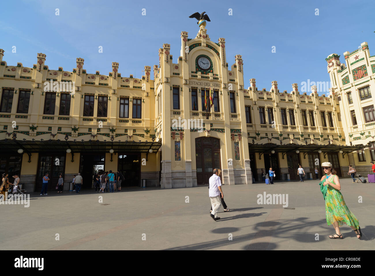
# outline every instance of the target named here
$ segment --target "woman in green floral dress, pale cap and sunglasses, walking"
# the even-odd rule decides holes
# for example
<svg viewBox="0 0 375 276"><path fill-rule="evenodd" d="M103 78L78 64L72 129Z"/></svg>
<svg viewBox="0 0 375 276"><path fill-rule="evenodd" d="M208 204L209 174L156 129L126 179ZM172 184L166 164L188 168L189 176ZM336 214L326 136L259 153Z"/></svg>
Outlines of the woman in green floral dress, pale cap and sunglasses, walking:
<svg viewBox="0 0 375 276"><path fill-rule="evenodd" d="M329 236L329 238L344 239L340 232L339 226L346 223L354 230L357 238L360 239L362 237L362 232L361 228L359 227L358 219L345 204L344 197L340 192L341 185L339 177L336 175L335 169L332 168L332 164L330 162L324 162L322 164L322 169L324 169L325 175L322 177L321 181L324 180L324 186L328 185L326 193L327 224L333 224L333 227L336 230L336 234Z"/></svg>

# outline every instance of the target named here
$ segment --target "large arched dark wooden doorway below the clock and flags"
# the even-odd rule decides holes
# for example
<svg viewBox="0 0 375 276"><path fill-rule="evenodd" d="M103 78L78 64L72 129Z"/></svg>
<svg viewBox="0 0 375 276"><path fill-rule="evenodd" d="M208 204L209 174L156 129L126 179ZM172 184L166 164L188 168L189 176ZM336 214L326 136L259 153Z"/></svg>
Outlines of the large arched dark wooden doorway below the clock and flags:
<svg viewBox="0 0 375 276"><path fill-rule="evenodd" d="M196 181L208 184L214 169L221 169L220 139L199 137L195 139Z"/></svg>

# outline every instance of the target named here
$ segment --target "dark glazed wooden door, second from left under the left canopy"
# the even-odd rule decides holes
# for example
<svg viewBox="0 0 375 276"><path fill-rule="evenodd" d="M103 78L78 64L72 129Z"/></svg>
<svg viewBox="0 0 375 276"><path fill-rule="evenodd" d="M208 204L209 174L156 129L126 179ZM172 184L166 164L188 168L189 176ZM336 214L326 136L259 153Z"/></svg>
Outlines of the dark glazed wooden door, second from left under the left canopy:
<svg viewBox="0 0 375 276"><path fill-rule="evenodd" d="M48 181L48 191L55 190L55 187L58 182L58 176L62 174L64 178L65 155L66 154L39 155L38 172L35 181L36 192L42 190L43 176L46 173L49 174L48 178L50 179Z"/></svg>

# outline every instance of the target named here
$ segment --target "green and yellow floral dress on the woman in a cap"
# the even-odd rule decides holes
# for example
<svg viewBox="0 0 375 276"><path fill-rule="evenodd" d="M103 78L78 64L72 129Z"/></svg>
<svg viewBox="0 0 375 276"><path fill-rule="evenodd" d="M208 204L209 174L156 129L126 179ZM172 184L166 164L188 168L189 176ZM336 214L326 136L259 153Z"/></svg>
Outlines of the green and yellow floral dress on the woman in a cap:
<svg viewBox="0 0 375 276"><path fill-rule="evenodd" d="M327 177L327 174L326 174ZM330 176L328 181L335 184L333 181L335 176ZM327 180L326 180L327 181ZM359 227L359 222L356 216L349 210L345 204L344 197L339 190L336 190L331 185L328 185L326 193L326 217L327 224L331 225L335 221L342 226L346 223L348 226Z"/></svg>

